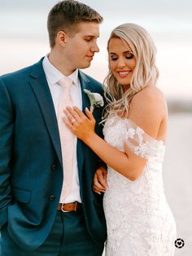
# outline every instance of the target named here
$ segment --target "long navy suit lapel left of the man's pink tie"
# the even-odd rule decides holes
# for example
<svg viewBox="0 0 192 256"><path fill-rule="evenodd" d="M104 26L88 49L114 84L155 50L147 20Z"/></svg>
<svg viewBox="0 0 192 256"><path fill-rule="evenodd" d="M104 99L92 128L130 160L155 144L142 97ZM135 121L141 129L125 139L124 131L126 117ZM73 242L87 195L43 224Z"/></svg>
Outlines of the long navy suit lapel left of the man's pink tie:
<svg viewBox="0 0 192 256"><path fill-rule="evenodd" d="M55 115L55 107L50 94L50 88L46 81L46 75L42 68L42 60L33 66L32 73L30 74L30 86L36 95L37 102L41 109L42 116L46 123L46 128L50 134L50 139L55 148L55 152L59 157L62 165L62 154L60 148L59 130L57 124L57 117Z"/></svg>

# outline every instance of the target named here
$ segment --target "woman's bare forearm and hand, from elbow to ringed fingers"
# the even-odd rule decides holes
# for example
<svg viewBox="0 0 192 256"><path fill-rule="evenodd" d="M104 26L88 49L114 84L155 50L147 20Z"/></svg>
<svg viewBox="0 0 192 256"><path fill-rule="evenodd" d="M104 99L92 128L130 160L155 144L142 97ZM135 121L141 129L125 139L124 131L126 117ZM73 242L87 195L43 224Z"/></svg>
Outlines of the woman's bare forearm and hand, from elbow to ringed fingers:
<svg viewBox="0 0 192 256"><path fill-rule="evenodd" d="M92 113L88 109L85 109L85 113L81 112L79 108L68 108L65 112L68 119L64 118L64 121L68 128L81 139L85 144L89 146L108 166L118 171L130 180L137 179L141 174L146 160L142 157L137 157L129 148L125 145L125 152L120 152L117 148L112 147L106 143L94 132L95 120ZM75 118L73 125L70 121Z"/></svg>

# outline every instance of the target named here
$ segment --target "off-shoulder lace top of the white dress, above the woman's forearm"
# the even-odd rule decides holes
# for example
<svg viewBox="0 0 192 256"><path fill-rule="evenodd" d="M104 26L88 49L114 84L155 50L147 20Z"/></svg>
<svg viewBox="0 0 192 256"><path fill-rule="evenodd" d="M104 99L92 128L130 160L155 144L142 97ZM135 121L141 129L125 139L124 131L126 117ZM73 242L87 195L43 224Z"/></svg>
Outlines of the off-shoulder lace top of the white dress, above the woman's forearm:
<svg viewBox="0 0 192 256"><path fill-rule="evenodd" d="M129 118L118 116L111 117L106 121L103 134L107 143L124 152L124 143L127 143L137 156L146 159L153 158L155 161L163 162L165 144L147 135L141 127L137 126Z"/></svg>

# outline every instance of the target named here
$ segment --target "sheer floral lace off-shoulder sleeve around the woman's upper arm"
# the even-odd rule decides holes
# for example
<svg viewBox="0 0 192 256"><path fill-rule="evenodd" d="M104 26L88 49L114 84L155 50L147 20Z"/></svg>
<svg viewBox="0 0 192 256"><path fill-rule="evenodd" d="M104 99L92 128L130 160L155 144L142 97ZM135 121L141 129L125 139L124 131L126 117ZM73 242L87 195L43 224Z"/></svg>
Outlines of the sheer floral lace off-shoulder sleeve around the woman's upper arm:
<svg viewBox="0 0 192 256"><path fill-rule="evenodd" d="M127 119L125 143L138 157L159 157L159 147L164 147L162 140L156 140L147 135L141 127Z"/></svg>

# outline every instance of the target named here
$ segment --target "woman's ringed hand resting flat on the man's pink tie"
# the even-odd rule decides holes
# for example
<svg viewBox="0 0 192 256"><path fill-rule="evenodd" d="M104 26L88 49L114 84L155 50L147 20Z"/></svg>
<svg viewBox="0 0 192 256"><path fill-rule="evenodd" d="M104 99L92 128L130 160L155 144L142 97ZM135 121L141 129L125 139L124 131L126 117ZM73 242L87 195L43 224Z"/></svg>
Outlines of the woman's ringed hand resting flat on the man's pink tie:
<svg viewBox="0 0 192 256"><path fill-rule="evenodd" d="M85 141L94 134L95 119L88 108L85 108L86 115L77 107L67 107L64 113L63 121L79 139Z"/></svg>

